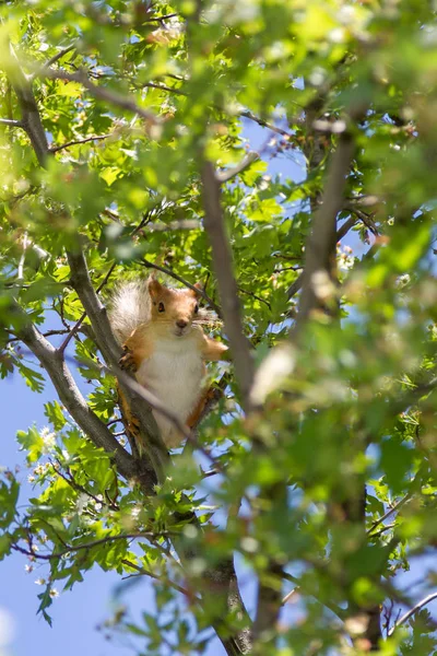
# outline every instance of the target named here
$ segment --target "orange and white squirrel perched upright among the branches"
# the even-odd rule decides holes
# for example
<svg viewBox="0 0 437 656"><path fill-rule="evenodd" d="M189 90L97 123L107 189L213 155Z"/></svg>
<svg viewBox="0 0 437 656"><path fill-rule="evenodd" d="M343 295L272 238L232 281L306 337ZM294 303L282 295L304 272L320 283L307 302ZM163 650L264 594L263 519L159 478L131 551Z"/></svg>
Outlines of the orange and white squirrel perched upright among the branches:
<svg viewBox="0 0 437 656"><path fill-rule="evenodd" d="M193 286L202 289L200 283ZM204 363L226 360L228 351L204 335L202 319L204 323L194 290L172 289L154 277L119 285L109 312L125 352L120 366L132 371L137 380L188 427L205 401ZM160 412L152 412L166 447L178 446L184 438L180 431ZM134 427L130 429L134 434Z"/></svg>

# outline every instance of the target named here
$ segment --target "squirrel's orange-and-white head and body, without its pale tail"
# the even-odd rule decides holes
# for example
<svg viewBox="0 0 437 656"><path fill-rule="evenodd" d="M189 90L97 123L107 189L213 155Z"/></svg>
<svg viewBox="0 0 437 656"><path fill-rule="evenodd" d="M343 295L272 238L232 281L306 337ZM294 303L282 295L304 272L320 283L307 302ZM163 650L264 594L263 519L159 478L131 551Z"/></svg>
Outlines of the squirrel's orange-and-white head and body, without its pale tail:
<svg viewBox="0 0 437 656"><path fill-rule="evenodd" d="M126 339L120 365L135 372L139 383L191 427L209 398L209 391L202 389L204 362L223 360L227 347L206 337L196 324L199 311L196 291L172 290L154 278L149 280L145 290L147 298L143 303L149 304L150 319L138 325ZM145 314L144 306L139 313L141 316ZM122 307L117 307L117 313L119 326ZM127 321L132 325L131 318ZM121 406L129 430L138 435L138 424L123 399ZM160 413L154 411L154 415L166 445L177 446L181 435Z"/></svg>

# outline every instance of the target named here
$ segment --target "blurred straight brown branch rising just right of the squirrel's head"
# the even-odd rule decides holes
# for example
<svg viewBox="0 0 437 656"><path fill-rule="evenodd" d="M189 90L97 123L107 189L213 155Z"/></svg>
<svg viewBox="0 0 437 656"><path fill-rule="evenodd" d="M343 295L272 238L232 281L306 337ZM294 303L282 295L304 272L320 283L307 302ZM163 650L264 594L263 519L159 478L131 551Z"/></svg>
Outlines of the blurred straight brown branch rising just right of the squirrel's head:
<svg viewBox="0 0 437 656"><path fill-rule="evenodd" d="M233 273L233 258L226 235L220 198L220 181L211 162L204 162L201 172L203 186L204 226L212 247L212 259L218 283L225 332L229 339L235 375L241 390L246 412L251 409L250 388L253 362L245 337L238 288Z"/></svg>

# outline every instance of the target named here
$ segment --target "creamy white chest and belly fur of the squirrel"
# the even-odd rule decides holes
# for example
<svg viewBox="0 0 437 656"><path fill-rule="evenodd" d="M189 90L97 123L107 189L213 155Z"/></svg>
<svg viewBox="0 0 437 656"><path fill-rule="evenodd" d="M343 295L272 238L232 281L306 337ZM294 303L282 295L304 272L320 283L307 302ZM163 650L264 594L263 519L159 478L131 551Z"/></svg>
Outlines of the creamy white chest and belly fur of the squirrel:
<svg viewBox="0 0 437 656"><path fill-rule="evenodd" d="M185 423L199 400L203 375L199 348L187 336L156 340L153 354L142 362L137 379ZM165 444L179 444L180 435L168 420L158 412L154 417Z"/></svg>

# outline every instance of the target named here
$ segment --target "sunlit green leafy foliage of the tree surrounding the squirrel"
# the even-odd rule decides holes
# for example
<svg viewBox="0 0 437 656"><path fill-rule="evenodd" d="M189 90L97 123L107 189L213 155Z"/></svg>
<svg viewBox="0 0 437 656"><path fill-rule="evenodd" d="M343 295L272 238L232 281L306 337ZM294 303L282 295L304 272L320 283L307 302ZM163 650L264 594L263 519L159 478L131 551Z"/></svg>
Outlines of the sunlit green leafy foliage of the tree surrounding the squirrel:
<svg viewBox="0 0 437 656"><path fill-rule="evenodd" d="M39 327L59 375L82 377L78 395L131 453L72 281L79 248L104 302L153 268L206 282L235 359L205 162L224 180L257 365L246 396L249 361L211 367L225 394L152 495L64 399L48 403L50 427L17 434L35 485L25 512L12 470L0 478L0 557L47 561L48 621L56 587L94 564L151 577L142 623L109 622L141 654L202 654L211 628L217 654L434 653L429 611L395 626L393 610L414 608L400 573L437 544L434 3L17 0L0 12L1 376L16 370L42 391ZM265 141L245 163L249 125ZM273 159L284 175L269 174ZM235 554L259 584L253 622L215 576L235 584ZM290 582L298 622L280 621Z"/></svg>

